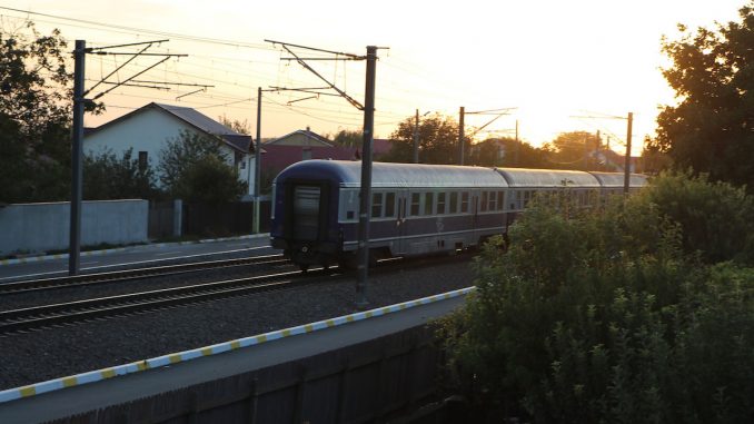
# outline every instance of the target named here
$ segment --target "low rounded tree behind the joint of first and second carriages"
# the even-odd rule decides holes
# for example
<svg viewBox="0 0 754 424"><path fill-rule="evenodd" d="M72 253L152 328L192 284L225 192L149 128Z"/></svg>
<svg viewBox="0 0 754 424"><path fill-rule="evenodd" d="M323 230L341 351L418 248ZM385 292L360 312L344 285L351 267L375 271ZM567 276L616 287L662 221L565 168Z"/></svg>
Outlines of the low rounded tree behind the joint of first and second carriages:
<svg viewBox="0 0 754 424"><path fill-rule="evenodd" d="M488 138L472 147L469 162L485 167L552 168L547 151L513 138Z"/></svg>

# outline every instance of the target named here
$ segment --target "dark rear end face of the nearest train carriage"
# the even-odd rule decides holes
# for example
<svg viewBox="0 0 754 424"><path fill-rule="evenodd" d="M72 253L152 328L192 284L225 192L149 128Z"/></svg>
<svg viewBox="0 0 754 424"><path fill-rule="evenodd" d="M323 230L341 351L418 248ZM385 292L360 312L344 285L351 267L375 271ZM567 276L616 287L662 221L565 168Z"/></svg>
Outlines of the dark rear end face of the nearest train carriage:
<svg viewBox="0 0 754 424"><path fill-rule="evenodd" d="M330 160L300 161L275 178L270 243L301 269L337 263L343 248L338 226L341 183L343 169Z"/></svg>

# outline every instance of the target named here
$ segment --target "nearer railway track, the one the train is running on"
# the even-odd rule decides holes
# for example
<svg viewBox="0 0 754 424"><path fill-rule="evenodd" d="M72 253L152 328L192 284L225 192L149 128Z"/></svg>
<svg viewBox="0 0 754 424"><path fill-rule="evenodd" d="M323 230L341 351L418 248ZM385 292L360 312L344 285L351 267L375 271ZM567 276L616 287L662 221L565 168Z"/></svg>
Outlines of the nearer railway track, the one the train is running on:
<svg viewBox="0 0 754 424"><path fill-rule="evenodd" d="M219 298L287 289L341 276L336 273L315 274L297 270L4 310L0 312L0 335L198 304Z"/></svg>

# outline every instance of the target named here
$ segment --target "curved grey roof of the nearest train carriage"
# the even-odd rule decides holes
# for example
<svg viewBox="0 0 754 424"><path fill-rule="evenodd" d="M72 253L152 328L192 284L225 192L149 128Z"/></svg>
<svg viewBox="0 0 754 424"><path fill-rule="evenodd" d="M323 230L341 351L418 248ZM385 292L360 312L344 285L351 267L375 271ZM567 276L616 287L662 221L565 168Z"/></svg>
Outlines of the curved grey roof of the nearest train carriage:
<svg viewBox="0 0 754 424"><path fill-rule="evenodd" d="M361 161L304 160L284 169L279 178L335 179L341 187L361 185ZM373 187L507 187L490 168L454 165L374 162Z"/></svg>

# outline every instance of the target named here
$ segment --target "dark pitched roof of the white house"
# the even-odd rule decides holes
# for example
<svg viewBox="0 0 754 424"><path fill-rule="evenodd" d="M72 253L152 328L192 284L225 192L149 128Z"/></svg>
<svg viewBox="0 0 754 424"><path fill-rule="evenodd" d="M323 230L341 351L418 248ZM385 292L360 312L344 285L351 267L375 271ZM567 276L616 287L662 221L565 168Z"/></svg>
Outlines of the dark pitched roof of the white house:
<svg viewBox="0 0 754 424"><path fill-rule="evenodd" d="M92 128L87 135L101 131L105 128L112 127L119 122L122 122L127 119L135 117L138 114L141 114L149 109L158 109L163 112L170 114L173 117L182 120L189 126L196 128L197 130L205 132L210 136L216 136L222 140L226 145L231 147L235 150L238 150L244 154L252 152L254 145L251 144L251 136L246 136L240 132L232 130L231 128L226 127L225 125L216 121L215 119L197 111L196 109L183 107L183 106L172 106L165 103L151 102L130 111L119 118L116 118L109 122L102 124L97 128Z"/></svg>

